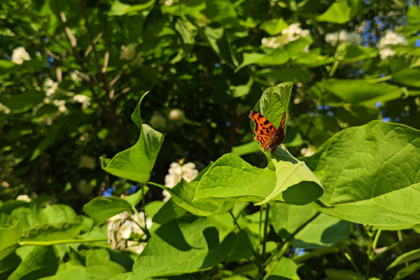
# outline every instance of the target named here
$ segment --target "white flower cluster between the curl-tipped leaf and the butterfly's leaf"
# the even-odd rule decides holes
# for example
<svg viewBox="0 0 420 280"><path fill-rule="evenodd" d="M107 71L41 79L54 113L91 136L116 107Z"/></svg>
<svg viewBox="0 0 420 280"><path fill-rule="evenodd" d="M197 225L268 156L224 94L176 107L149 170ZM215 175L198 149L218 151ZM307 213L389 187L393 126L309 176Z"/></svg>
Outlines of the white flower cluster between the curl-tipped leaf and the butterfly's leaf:
<svg viewBox="0 0 420 280"><path fill-rule="evenodd" d="M169 166L168 174L165 176L165 186L167 188L174 188L174 186L181 181L181 178L187 182L193 181L198 175L198 171L195 168L194 162L188 162L185 165L182 164L183 161L172 162ZM167 202L171 197L166 190L162 191L164 202Z"/></svg>

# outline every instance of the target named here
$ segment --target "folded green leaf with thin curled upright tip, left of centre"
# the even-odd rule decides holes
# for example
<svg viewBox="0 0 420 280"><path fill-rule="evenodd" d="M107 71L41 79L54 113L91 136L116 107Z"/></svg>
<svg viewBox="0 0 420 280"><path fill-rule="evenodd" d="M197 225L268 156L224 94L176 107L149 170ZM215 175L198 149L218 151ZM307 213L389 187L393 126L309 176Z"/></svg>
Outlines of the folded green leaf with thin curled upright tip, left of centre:
<svg viewBox="0 0 420 280"><path fill-rule="evenodd" d="M140 104L146 94L143 94L132 113L132 120L141 130L139 141L115 155L112 160L102 158L102 168L106 172L140 183L148 182L164 139L163 134L141 122Z"/></svg>

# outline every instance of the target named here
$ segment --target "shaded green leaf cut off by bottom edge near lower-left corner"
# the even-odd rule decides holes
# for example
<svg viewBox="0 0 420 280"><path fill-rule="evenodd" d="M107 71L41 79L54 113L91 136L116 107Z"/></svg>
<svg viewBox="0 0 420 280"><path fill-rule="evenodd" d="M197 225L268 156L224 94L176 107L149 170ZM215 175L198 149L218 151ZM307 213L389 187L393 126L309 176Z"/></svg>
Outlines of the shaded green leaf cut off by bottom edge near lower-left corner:
<svg viewBox="0 0 420 280"><path fill-rule="evenodd" d="M8 280L39 279L55 274L58 258L52 246L34 246Z"/></svg>

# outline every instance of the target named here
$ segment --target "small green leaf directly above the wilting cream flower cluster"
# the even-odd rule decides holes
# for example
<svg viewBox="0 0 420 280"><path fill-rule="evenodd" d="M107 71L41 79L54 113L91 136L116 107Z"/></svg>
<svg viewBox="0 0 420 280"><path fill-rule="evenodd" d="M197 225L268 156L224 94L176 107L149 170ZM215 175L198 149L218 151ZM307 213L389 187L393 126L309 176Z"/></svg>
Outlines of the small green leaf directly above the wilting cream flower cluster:
<svg viewBox="0 0 420 280"><path fill-rule="evenodd" d="M106 221L124 211L130 211L132 204L119 197L95 197L83 206L83 211L93 218L95 224Z"/></svg>

